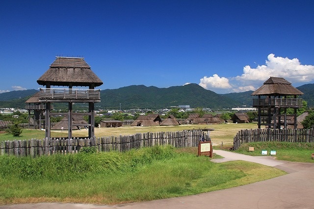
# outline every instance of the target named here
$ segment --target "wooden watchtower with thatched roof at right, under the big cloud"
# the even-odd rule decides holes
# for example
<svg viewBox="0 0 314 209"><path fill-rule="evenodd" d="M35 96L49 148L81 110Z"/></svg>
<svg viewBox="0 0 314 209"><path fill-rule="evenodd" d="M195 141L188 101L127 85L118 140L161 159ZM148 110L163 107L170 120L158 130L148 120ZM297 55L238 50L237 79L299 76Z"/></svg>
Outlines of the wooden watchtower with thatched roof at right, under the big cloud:
<svg viewBox="0 0 314 209"><path fill-rule="evenodd" d="M302 99L298 99L297 96L302 94L284 78L270 77L266 80L251 94L258 96L258 99L253 99L253 106L258 108L259 129L261 129L261 125L274 129L287 129L288 116L293 116L294 121L291 125L296 129L296 110L302 107ZM294 109L292 115L287 115L288 108Z"/></svg>

